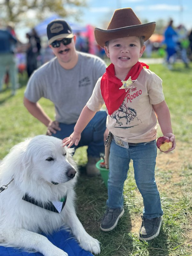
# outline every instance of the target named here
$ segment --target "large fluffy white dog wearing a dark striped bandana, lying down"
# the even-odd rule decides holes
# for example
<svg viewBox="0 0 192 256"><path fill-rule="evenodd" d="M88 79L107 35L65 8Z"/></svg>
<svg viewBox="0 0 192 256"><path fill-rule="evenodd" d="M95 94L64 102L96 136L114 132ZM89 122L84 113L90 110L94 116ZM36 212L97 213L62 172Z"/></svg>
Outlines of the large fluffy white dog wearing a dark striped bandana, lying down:
<svg viewBox="0 0 192 256"><path fill-rule="evenodd" d="M76 216L72 151L62 147L60 139L39 135L14 146L3 159L0 191L14 180L0 192L0 245L67 256L38 234L66 227L83 249L100 253L99 241L87 234Z"/></svg>

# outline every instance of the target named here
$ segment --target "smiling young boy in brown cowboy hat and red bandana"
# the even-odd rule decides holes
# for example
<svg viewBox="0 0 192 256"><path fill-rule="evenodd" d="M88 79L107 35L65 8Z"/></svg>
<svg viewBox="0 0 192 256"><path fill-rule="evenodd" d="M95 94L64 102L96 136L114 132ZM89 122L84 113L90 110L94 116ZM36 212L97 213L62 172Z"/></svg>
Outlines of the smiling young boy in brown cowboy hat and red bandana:
<svg viewBox="0 0 192 256"><path fill-rule="evenodd" d="M131 8L117 9L107 30L95 28L97 43L111 60L106 73L97 81L91 98L81 112L74 132L63 140L64 146L78 144L81 132L103 103L106 104L107 128L112 134L109 155L107 211L100 228L116 227L124 214L123 187L130 160L133 160L137 187L143 197L140 240L158 236L163 210L155 181L156 116L164 136L172 141L169 108L164 100L162 80L138 60L146 41L155 30L155 22L141 24ZM148 68L148 66L147 66Z"/></svg>

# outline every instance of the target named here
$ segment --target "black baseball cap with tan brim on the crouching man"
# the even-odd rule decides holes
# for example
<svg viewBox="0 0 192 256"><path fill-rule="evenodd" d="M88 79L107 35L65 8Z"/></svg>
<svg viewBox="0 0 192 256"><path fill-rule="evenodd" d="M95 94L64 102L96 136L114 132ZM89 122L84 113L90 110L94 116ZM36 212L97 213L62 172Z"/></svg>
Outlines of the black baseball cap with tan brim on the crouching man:
<svg viewBox="0 0 192 256"><path fill-rule="evenodd" d="M70 25L62 19L53 20L47 25L48 43L52 44L59 38L73 38L74 34Z"/></svg>

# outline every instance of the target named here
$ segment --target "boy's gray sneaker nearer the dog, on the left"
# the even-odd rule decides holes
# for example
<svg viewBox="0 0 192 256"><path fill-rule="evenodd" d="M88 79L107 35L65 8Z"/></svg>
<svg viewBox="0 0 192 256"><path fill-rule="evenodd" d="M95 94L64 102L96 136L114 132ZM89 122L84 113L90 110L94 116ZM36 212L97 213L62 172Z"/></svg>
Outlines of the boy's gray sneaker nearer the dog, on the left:
<svg viewBox="0 0 192 256"><path fill-rule="evenodd" d="M104 214L100 228L103 231L110 231L114 229L117 225L118 220L123 216L124 209L112 209L107 208L106 213Z"/></svg>

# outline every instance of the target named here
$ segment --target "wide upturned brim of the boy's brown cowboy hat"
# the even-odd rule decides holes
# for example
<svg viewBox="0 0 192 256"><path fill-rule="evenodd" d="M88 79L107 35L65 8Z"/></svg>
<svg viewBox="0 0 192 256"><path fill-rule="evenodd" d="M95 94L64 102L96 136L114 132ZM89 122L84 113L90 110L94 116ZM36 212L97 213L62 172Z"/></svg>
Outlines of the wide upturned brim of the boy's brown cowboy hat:
<svg viewBox="0 0 192 256"><path fill-rule="evenodd" d="M107 30L95 28L95 39L101 47L104 47L105 43L109 40L127 36L144 36L144 41L147 41L153 34L155 26L156 22L149 22L146 24Z"/></svg>

